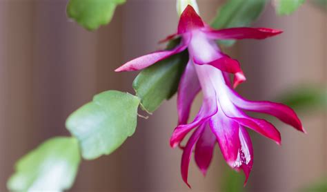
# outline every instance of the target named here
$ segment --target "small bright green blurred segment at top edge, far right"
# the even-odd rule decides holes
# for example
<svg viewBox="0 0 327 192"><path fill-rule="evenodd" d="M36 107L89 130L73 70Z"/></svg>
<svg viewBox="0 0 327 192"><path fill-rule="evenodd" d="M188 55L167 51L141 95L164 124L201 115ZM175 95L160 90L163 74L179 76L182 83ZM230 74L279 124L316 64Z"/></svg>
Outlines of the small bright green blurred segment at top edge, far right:
<svg viewBox="0 0 327 192"><path fill-rule="evenodd" d="M290 15L295 12L305 0L277 0L275 8L278 15Z"/></svg>

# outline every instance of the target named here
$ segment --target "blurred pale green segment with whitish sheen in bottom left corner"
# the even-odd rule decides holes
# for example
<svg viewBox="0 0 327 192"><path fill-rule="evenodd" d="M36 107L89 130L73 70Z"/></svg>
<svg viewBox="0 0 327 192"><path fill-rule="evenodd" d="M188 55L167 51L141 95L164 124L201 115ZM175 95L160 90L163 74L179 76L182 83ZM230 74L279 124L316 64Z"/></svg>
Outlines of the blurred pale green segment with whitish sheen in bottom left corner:
<svg viewBox="0 0 327 192"><path fill-rule="evenodd" d="M8 180L10 191L63 191L72 186L81 157L73 137L54 137L23 156Z"/></svg>

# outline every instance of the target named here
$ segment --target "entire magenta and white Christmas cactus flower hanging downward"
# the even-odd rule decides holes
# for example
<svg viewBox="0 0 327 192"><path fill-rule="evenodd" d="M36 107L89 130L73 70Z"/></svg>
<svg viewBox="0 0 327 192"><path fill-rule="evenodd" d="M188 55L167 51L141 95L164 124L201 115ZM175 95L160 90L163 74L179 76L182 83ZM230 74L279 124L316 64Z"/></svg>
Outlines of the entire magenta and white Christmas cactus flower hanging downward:
<svg viewBox="0 0 327 192"><path fill-rule="evenodd" d="M238 95L233 88L246 79L244 73L239 62L221 52L216 44L217 39L265 39L280 33L280 30L268 28L215 30L202 21L192 6L187 6L181 14L177 33L164 40L181 37L177 47L152 52L117 68L116 71L141 70L188 49L189 61L179 82L177 97L179 122L170 138L170 145L176 147L194 130L186 146L182 147L181 175L186 184L193 150L197 166L206 174L213 148L218 143L228 165L236 171L244 171L246 184L253 164L252 143L246 128L277 144L281 143L280 133L273 124L249 117L243 110L273 115L304 132L299 118L288 106L273 102L251 102ZM229 74L234 75L233 82L230 82ZM204 95L203 104L195 119L188 124L190 106L200 90Z"/></svg>

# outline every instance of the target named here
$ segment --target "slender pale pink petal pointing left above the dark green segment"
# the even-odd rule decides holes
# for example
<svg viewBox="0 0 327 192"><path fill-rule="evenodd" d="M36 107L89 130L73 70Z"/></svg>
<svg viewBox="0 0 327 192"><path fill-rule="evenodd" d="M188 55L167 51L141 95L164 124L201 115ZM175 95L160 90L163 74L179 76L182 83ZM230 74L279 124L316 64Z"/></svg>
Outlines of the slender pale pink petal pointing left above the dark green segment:
<svg viewBox="0 0 327 192"><path fill-rule="evenodd" d="M152 52L148 55L143 55L141 57L138 57L136 59L133 59L132 61L128 61L123 66L120 66L115 70L115 72L121 72L121 71L131 71L131 70L141 70L143 68L147 68L148 66L151 66L152 64L157 63L158 61L161 61L163 59L166 59L167 57L170 57L171 55L175 55L179 52L182 52L187 48L188 42L182 41L182 44L177 46L176 48L172 50L160 50L157 52Z"/></svg>

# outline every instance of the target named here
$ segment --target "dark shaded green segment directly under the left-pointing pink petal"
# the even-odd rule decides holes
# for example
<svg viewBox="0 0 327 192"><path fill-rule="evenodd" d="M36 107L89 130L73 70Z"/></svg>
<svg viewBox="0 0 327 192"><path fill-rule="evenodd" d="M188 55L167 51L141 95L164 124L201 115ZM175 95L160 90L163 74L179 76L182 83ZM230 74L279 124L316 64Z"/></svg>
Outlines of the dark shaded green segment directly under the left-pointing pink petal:
<svg viewBox="0 0 327 192"><path fill-rule="evenodd" d="M153 64L137 75L133 88L141 98L144 110L149 113L156 111L165 99L170 99L176 93L187 62L187 52L181 52Z"/></svg>

